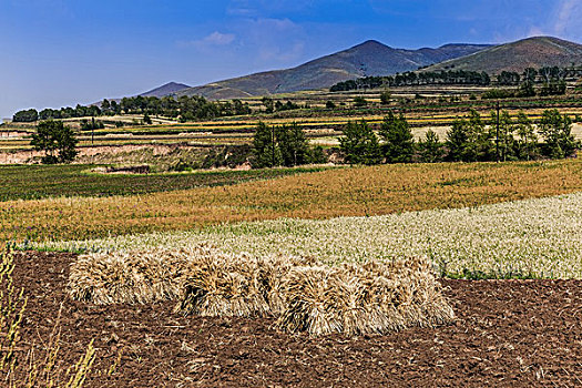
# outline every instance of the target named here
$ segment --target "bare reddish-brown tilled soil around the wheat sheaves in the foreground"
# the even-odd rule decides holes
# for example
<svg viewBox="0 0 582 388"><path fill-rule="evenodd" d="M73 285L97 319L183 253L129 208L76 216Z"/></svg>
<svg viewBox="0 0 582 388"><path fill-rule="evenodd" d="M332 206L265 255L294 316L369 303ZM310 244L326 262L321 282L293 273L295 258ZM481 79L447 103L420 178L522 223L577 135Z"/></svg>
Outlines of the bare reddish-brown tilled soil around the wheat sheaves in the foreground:
<svg viewBox="0 0 582 388"><path fill-rule="evenodd" d="M70 254L18 254L14 279L29 304L24 348L61 319L62 361L95 338L94 369L123 349L111 377L89 387L582 386L582 282L442 280L453 325L389 336L309 338L269 319L173 314L173 303L94 306L65 294ZM21 344L22 345L22 344Z"/></svg>

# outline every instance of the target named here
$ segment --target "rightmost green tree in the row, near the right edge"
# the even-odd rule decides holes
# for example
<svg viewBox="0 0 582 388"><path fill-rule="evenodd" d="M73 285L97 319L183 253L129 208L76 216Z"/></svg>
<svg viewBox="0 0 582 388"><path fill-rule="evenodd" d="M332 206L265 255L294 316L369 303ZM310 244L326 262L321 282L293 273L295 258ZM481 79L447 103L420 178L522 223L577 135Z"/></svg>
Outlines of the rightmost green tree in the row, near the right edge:
<svg viewBox="0 0 582 388"><path fill-rule="evenodd" d="M566 114L561 115L557 109L543 112L540 134L545 142L542 150L548 157L569 157L579 145L572 135L572 120Z"/></svg>

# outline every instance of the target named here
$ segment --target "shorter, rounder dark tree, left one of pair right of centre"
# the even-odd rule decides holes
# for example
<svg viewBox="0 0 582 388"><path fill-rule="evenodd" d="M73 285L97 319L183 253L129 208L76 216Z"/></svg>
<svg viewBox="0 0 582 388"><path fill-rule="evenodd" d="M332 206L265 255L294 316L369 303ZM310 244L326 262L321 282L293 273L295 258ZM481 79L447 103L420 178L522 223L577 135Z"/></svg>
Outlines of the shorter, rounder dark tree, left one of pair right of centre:
<svg viewBox="0 0 582 388"><path fill-rule="evenodd" d="M378 137L366 121L348 122L341 130L339 147L349 164L378 164L381 150Z"/></svg>

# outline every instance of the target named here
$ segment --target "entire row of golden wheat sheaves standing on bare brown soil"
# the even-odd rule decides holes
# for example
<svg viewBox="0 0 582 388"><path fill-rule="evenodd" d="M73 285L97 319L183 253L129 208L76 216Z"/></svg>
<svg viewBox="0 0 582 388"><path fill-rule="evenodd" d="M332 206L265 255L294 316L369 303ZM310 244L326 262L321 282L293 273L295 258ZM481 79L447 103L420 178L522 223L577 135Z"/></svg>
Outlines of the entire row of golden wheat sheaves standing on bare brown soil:
<svg viewBox="0 0 582 388"><path fill-rule="evenodd" d="M425 259L329 266L313 258L190 251L94 254L71 268L73 298L175 299L201 316L278 317L287 331L384 334L450 321L453 313Z"/></svg>

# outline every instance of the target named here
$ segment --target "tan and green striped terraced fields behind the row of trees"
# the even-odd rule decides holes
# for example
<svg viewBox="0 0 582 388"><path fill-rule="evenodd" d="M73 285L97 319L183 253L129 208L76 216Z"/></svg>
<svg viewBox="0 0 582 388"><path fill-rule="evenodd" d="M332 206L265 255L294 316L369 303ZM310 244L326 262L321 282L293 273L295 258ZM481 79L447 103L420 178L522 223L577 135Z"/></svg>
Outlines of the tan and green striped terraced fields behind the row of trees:
<svg viewBox="0 0 582 388"><path fill-rule="evenodd" d="M299 105L308 104L310 109L298 109L267 114L262 112L262 102L258 98L245 101L255 109L255 113L243 116L226 116L214 120L177 123L167 118L153 118L152 125L140 123L142 116L135 114L120 116L101 116L98 120L109 122L124 122L126 126L115 127L108 124L104 129L80 131L80 147L129 146L155 144L186 144L190 146L248 144L252 141L254 129L259 121L268 125L282 125L296 122L306 131L307 137L314 144L324 146L337 145L340 127L348 121L366 120L372 125L379 125L389 111L402 112L418 139L422 137L428 129L435 130L443 141L446 132L458 116L463 116L471 109L477 110L484 120L489 119L494 109L494 101L469 100L473 92L481 89L471 88L402 88L394 91L394 101L390 105L379 104L381 90L358 92L297 92L284 95L274 95L275 100L293 101ZM420 95L420 98L417 98ZM369 106L351 106L355 98L365 98ZM449 101L458 98L460 101ZM338 109L325 109L327 101L343 103ZM518 112L524 113L533 121L541 118L543 110L557 108L571 118L582 116L582 102L578 94L535 98L509 99L500 102L500 108L507 110L512 118ZM65 119L73 127L79 126L79 119ZM91 120L91 118L84 118ZM14 132L20 131L20 132ZM10 152L30 151L28 136L33 131L31 123L10 123L0 127L0 163L7 163L9 157L3 155ZM12 132L12 135L10 133ZM582 125L573 126L573 134L582 139ZM4 135L6 134L6 135ZM10 135L10 136L9 136Z"/></svg>

